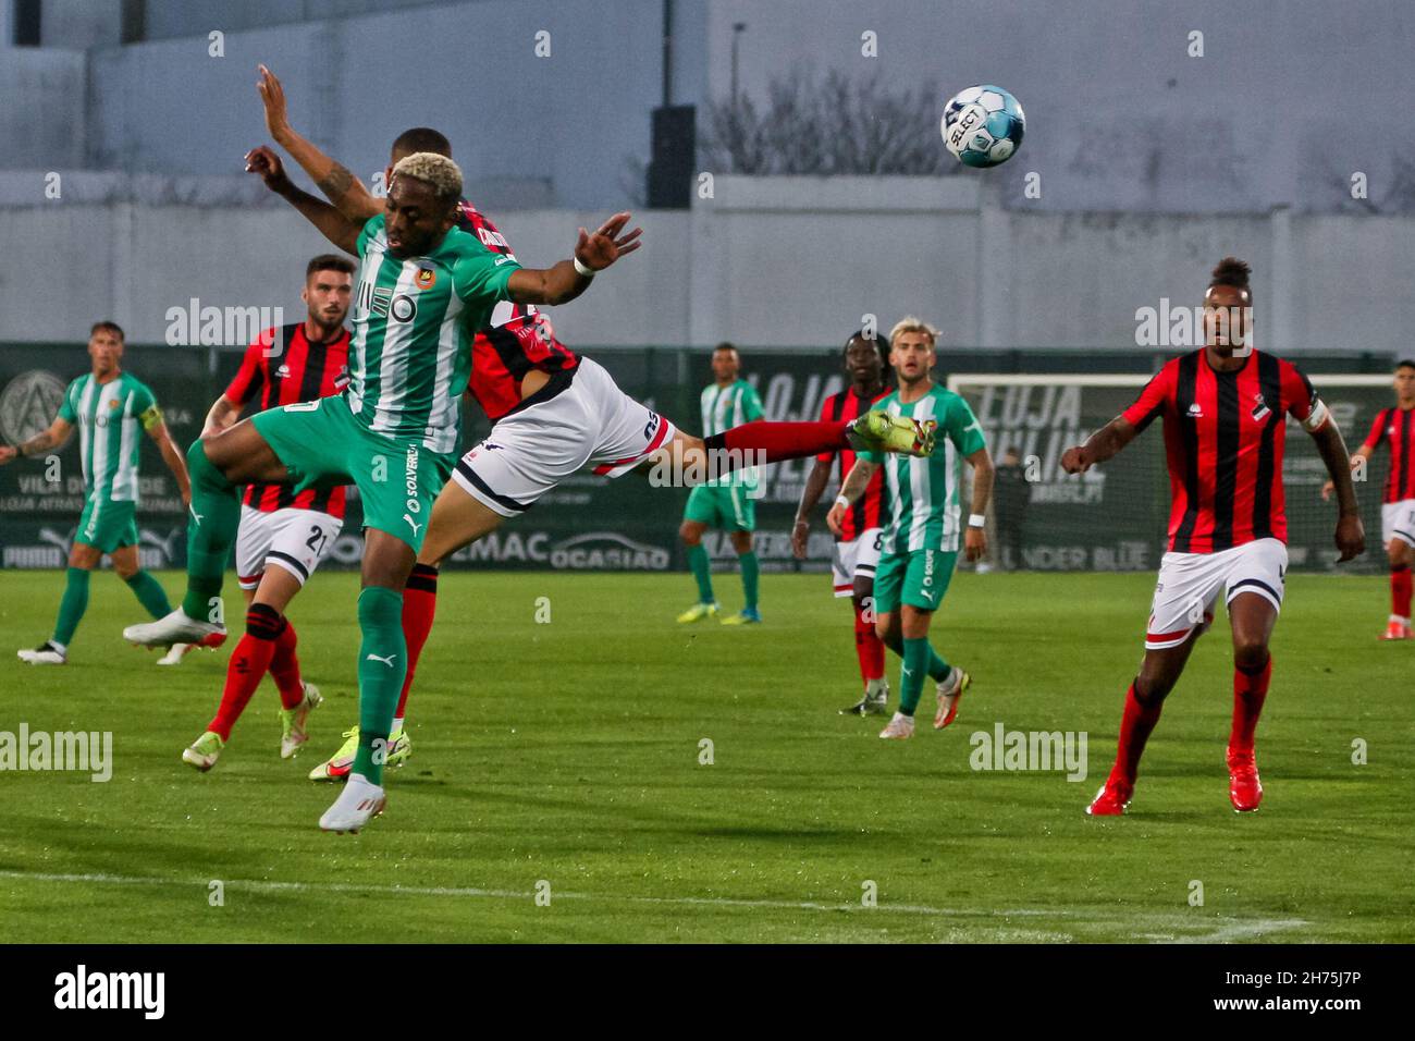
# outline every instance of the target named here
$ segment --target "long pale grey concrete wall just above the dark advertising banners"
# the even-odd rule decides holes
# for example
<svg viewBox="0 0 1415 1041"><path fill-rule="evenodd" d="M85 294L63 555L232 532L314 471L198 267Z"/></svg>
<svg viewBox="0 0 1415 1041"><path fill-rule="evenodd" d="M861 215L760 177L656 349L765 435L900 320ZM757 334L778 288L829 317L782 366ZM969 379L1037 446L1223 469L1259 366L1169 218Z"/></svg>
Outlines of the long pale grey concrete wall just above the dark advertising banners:
<svg viewBox="0 0 1415 1041"><path fill-rule="evenodd" d="M0 341L72 340L116 317L161 341L166 312L299 313L323 239L239 178L0 176L0 227L25 265L0 278ZM567 255L599 210L490 210L519 259ZM558 309L569 343L835 344L916 312L952 346L1133 347L1140 307L1193 306L1227 254L1255 269L1259 344L1409 354L1415 217L1032 214L972 178L717 177L692 212L648 211L645 246Z"/></svg>

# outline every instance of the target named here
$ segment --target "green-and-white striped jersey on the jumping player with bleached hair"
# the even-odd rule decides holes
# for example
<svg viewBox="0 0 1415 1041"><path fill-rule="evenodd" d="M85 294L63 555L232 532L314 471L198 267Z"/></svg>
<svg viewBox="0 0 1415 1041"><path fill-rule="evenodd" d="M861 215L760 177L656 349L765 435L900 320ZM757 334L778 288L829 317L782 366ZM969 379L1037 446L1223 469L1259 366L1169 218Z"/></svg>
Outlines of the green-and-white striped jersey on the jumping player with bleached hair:
<svg viewBox="0 0 1415 1041"><path fill-rule="evenodd" d="M453 228L426 256L388 252L383 215L358 237L359 268L350 344L350 411L368 429L457 448L457 401L471 372L471 341L521 268Z"/></svg>

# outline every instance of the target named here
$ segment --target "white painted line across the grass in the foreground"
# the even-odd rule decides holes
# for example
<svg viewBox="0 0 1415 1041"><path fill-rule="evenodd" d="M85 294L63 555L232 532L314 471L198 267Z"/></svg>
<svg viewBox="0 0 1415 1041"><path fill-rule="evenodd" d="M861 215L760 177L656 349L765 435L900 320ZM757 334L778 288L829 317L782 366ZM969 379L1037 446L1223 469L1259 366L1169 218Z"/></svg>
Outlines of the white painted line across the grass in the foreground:
<svg viewBox="0 0 1415 1041"><path fill-rule="evenodd" d="M99 885L161 885L161 887L194 887L205 889L208 882L200 880L181 878L143 878L137 875L108 875L108 874L38 874L30 871L0 871L0 878L14 878L18 881L35 882L89 882ZM449 885L357 885L352 882L279 882L258 878L229 878L221 880L222 885L250 892L308 892L325 889L330 892L365 892L382 894L388 897L473 897L490 899L531 899L535 894L525 889L481 889L471 887ZM940 918L1074 918L1080 922L1102 925L1121 919L1085 918L1074 911L1041 911L1037 908L1006 908L993 911L978 911L966 908L932 908L921 904L879 904L866 908L862 904L821 904L818 901L784 901L784 899L741 899L733 897L603 897L590 892L556 892L555 899L589 899L589 901L620 901L624 904L669 904L696 906L733 906L733 908L774 908L782 911L887 911L908 915L937 915ZM1169 921L1173 921L1172 918ZM1258 918L1251 921L1231 921L1217 929L1199 935L1174 938L1177 943L1223 943L1234 939L1251 939L1279 929L1295 929L1309 922L1300 918Z"/></svg>

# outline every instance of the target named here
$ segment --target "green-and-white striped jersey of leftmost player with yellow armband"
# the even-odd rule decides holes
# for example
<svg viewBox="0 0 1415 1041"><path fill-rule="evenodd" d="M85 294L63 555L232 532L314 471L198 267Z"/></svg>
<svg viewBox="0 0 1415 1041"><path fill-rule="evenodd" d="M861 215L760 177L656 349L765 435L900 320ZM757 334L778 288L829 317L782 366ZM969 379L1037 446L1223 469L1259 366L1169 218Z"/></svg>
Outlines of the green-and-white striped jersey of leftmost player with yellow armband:
<svg viewBox="0 0 1415 1041"><path fill-rule="evenodd" d="M79 428L85 494L136 503L142 435L163 419L147 385L129 372L106 384L81 375L64 392L59 419Z"/></svg>

